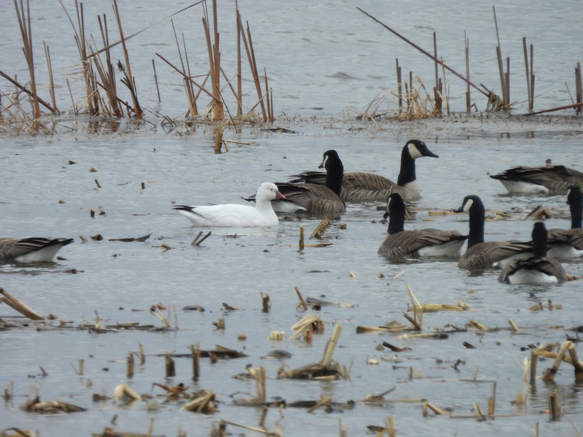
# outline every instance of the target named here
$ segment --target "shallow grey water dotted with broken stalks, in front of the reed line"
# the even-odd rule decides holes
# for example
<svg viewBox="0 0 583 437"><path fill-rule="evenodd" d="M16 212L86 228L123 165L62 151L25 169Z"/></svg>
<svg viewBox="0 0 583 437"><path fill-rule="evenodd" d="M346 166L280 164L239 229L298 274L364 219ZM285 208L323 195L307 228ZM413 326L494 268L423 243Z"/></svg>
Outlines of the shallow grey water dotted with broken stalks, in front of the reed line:
<svg viewBox="0 0 583 437"><path fill-rule="evenodd" d="M439 127L441 126L441 127ZM243 202L262 181L282 181L298 171L311 170L321 161L322 152L335 148L346 170L378 171L396 178L399 154L406 139L419 135L440 158L417 161L417 177L423 190L422 208L454 209L463 196L479 194L488 209L510 211L518 207L525 217L532 207L543 203L549 208L567 210L561 196L514 197L504 195L503 186L487 177L511 165L553 162L580 168L578 146L583 129L547 128L541 124L521 126L500 123L470 124L468 128L448 126L447 122L386 124L378 132L368 125L354 123L347 131L342 121L325 126L298 122L291 126L296 135L266 133L245 128L231 139L249 145L231 144L229 153L213 154L210 132L199 129L189 136L152 135L64 135L58 137L10 137L3 140L0 160L5 181L0 204L6 235L42 234L75 237L76 242L62 249L52 265L0 267L1 285L45 315L52 313L79 325L93 320L102 323L161 323L147 309L161 302L178 309L177 332L120 332L92 334L86 330L8 330L2 333L0 382L15 383L15 399L2 403L0 426L35 429L41 435L76 435L101 432L117 415L117 431L146 432L154 420L154 434L176 435L184 429L189 435L209 435L213 423L221 419L256 425L261 411L235 407L233 399L253 395L252 381L231 379L245 371L248 363L266 366L268 397L280 396L288 402L314 400L320 396L335 401L361 400L391 387L388 400L423 398L440 408L453 408L458 415L473 414L473 404L487 410L487 399L496 387L496 413L507 414L496 420L476 423L473 419L451 421L446 417L422 419L421 403L387 403L371 407L357 404L353 410L307 415L301 408L286 408L283 419L272 408L266 419L268 429L282 426L285 435L334 435L338 420L352 435L364 434L367 425L382 425L387 415L396 416L399 432L429 434L436 425L441 434L462 433L468 427L481 435L530 432L537 423L543 434L572 434L566 419L549 422L547 397L554 390L568 419L583 427L582 387L574 382L568 365L561 365L556 383L540 380L530 385L522 380L522 361L530 357L529 344L563 341L580 325L581 284L560 286L505 286L496 272L472 276L459 270L454 260L406 260L389 262L377 255L385 225L379 223L382 210L377 205L349 205L347 212L326 232L333 244L325 248L305 248L298 252L298 227L309 234L319 223L282 220L274 228L212 229L202 247L190 245L199 231L188 220L172 212L173 202L197 205L205 202ZM75 164L69 164L69 160ZM97 172L90 172L94 167ZM33 171L31 171L33 169ZM94 179L99 181L97 188ZM145 182L145 189L141 189ZM64 203L58 203L59 200ZM90 209L104 215L90 217ZM346 224L346 230L338 228ZM547 227L568 227L565 218L552 218ZM429 216L420 211L406 223L408 228L439 227L467 231L465 215ZM531 220L489 221L487 239L529 239ZM140 237L152 232L146 242L113 242L108 237ZM101 234L103 241L82 243L79 235ZM164 251L166 243L173 249ZM76 269L79 273L65 273ZM402 273L403 270L405 273ZM568 272L583 274L583 263L569 263ZM378 277L380 272L384 278ZM354 277L350 277L350 272ZM396 274L402 273L398 279ZM487 327L506 328L513 319L521 331L509 330L480 334L475 329L451 334L448 340L407 339L399 334L356 334L356 326L380 326L391 320L406 323L402 311L410 304L407 285L423 303L467 302L473 312L439 312L424 315L423 332L464 327L476 319ZM272 330L285 330L304 312L296 309L298 287L304 297L321 297L354 308L325 306L319 315L325 332L314 336L311 345L303 341L268 341ZM472 292L470 292L470 290ZM260 292L271 297L269 313L261 312ZM562 304L560 311L529 311L528 307L547 299ZM222 303L242 308L223 312ZM206 311L185 312L186 305L202 305ZM135 312L133 309L143 311ZM11 315L2 307L2 315ZM226 330L216 330L212 322L224 317ZM297 368L320 360L333 325L342 326L333 359L349 365L354 360L349 381L297 382L275 379L279 361L265 360L272 350L289 351L286 360ZM245 334L247 340L238 341ZM399 354L378 351L375 346L388 341L409 346ZM463 342L476 346L466 349ZM215 344L249 355L238 360L210 364L202 359L201 379L192 383L191 362L177 358L177 376L164 378L164 358L156 356L175 351L187 353L191 344L202 349ZM125 358L142 343L146 364L137 366L134 378L125 376ZM523 350L526 348L526 350ZM366 359L379 360L367 365ZM76 376L71 365L85 359L85 373ZM387 361L384 361L387 360ZM440 360L440 361L437 361ZM458 370L452 365L462 360ZM539 373L552 364L539 363ZM42 378L38 366L48 376ZM409 379L409 369L416 376ZM468 382L473 375L479 381ZM26 399L34 382L40 385L41 400L63 400L87 408L84 413L37 415L24 413L18 406ZM88 382L91 383L88 386ZM159 395L152 383L173 385L184 382L191 391L213 390L219 400L219 413L204 416L178 410L180 403L164 403L148 411L149 401L123 407L113 401L93 403L92 394L111 396L118 383L129 383L139 393ZM517 394L528 395L522 409L511 404ZM433 415L433 414L431 414ZM281 419L281 420L280 420ZM195 431L196 430L196 431ZM229 427L231 432L235 428Z"/></svg>

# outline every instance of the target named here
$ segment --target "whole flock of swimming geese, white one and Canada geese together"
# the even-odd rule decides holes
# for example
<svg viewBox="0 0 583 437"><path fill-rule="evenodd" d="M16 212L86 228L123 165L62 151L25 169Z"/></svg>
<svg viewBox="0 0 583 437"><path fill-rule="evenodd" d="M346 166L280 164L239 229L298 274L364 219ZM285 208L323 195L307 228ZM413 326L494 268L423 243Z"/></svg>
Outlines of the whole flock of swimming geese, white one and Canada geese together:
<svg viewBox="0 0 583 437"><path fill-rule="evenodd" d="M405 230L405 202L420 199L415 161L438 158L421 140L409 140L401 153L397 182L374 173L344 172L335 150L324 153L319 168L293 175L289 182L264 182L257 192L244 198L255 206L226 204L188 206L173 209L196 226L249 227L279 223L276 213L338 217L346 203L386 202L389 218L387 236L378 253L394 256L448 256L458 258L458 267L468 270L499 268L504 283L562 283L573 279L557 259L583 256L583 173L564 165L509 168L491 178L498 179L510 193L566 195L571 210L570 229L547 230L536 222L532 241L484 241L485 208L479 196L463 199L455 212L469 214L469 233L434 228ZM71 238L0 238L0 262L50 261ZM467 249L462 255L462 248Z"/></svg>

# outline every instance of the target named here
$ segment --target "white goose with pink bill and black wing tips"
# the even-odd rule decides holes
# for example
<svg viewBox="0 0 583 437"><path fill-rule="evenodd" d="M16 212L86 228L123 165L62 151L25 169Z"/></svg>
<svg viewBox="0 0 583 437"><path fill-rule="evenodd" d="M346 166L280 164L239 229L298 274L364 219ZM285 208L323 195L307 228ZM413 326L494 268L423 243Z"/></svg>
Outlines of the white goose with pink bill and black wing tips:
<svg viewBox="0 0 583 437"><path fill-rule="evenodd" d="M278 224L279 220L273 212L271 200L284 198L275 184L264 182L257 189L255 207L227 203L208 206L177 205L173 209L197 226L272 226Z"/></svg>

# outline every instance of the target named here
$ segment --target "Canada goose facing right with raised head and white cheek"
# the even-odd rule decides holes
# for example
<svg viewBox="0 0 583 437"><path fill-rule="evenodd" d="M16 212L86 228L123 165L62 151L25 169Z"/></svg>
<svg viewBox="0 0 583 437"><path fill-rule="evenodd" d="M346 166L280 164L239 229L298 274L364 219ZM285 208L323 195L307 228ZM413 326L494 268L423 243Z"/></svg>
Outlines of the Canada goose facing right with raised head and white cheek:
<svg viewBox="0 0 583 437"><path fill-rule="evenodd" d="M391 193L399 193L405 202L421 198L415 175L415 160L423 156L438 158L421 140L409 140L401 152L401 171L397 183L374 173L346 172L342 179L340 198L345 202L387 202ZM320 166L319 168L322 168ZM318 171L305 171L293 176L291 182L324 185L325 175Z"/></svg>

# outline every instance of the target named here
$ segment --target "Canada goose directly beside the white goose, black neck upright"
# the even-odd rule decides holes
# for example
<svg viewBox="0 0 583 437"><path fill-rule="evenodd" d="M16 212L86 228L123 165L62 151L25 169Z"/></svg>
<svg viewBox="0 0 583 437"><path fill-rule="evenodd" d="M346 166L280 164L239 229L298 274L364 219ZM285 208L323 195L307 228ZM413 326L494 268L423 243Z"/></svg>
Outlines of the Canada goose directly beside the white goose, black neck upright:
<svg viewBox="0 0 583 437"><path fill-rule="evenodd" d="M346 212L340 199L344 167L335 150L324 152L322 167L326 168L326 185L275 182L285 199L272 200L273 210L280 213L305 212L318 216L338 216ZM254 196L245 200L254 200Z"/></svg>

